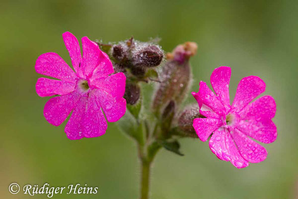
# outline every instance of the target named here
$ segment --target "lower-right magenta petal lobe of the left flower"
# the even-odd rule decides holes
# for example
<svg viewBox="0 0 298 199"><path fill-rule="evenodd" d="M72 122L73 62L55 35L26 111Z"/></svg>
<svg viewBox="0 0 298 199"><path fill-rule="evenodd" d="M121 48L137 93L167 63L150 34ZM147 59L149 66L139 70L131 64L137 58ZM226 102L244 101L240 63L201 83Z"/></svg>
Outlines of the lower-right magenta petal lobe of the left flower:
<svg viewBox="0 0 298 199"><path fill-rule="evenodd" d="M116 99L99 89L94 89L93 92L109 122L116 122L125 114L126 100L124 98Z"/></svg>

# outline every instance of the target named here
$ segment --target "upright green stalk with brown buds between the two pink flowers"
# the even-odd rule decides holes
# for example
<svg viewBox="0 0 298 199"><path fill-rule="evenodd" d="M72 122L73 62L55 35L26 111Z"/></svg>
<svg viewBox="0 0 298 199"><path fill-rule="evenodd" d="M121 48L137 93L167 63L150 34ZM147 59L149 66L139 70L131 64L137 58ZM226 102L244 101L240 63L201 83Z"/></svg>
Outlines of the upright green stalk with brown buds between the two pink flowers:
<svg viewBox="0 0 298 199"><path fill-rule="evenodd" d="M175 138L177 134L174 129L178 126L178 122L175 122L178 120L177 111L181 108L191 82L189 58L195 54L196 49L193 42L178 45L172 53L167 54L165 62L162 62L164 54L158 45L133 38L111 45L106 50L112 57L115 70L125 73L127 77L124 98L129 112L118 124L138 146L141 164L140 199L149 199L151 166L158 150L164 148L183 155L179 151L180 144ZM157 89L150 103L152 108L145 111L142 108L141 84L149 82L155 84Z"/></svg>

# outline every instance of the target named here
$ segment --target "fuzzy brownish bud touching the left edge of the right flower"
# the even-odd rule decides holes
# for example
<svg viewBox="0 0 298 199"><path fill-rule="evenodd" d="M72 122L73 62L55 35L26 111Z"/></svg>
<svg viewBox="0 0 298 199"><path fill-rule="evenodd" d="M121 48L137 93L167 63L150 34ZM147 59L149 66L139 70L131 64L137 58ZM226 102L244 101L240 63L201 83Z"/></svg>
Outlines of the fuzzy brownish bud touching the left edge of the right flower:
<svg viewBox="0 0 298 199"><path fill-rule="evenodd" d="M178 127L187 135L196 137L196 131L193 127L193 120L198 117L204 117L200 114L198 104L190 104L181 111L178 117Z"/></svg>

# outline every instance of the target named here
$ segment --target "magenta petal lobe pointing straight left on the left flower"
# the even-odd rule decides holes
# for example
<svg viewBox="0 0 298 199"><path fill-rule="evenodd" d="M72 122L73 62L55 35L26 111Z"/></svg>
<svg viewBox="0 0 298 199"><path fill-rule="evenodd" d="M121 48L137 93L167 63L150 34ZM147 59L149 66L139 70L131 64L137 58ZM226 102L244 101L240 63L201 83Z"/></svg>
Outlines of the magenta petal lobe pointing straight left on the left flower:
<svg viewBox="0 0 298 199"><path fill-rule="evenodd" d="M40 97L66 95L74 91L75 83L68 81L39 78L36 82L36 93Z"/></svg>

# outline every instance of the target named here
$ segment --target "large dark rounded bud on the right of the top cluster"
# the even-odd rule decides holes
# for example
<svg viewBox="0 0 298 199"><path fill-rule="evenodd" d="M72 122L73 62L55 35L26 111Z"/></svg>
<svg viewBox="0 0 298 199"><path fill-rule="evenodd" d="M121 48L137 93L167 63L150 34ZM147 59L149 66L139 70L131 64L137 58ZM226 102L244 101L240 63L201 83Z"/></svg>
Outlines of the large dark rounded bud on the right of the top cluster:
<svg viewBox="0 0 298 199"><path fill-rule="evenodd" d="M145 43L146 44L146 43ZM132 63L136 67L158 66L163 58L163 52L157 45L136 44L136 50L132 53Z"/></svg>

